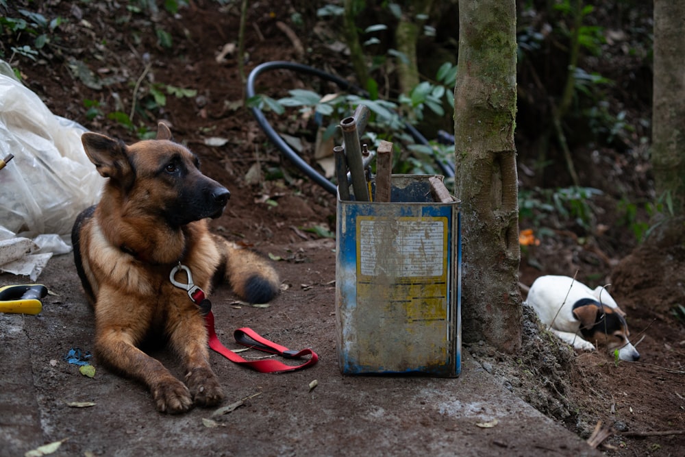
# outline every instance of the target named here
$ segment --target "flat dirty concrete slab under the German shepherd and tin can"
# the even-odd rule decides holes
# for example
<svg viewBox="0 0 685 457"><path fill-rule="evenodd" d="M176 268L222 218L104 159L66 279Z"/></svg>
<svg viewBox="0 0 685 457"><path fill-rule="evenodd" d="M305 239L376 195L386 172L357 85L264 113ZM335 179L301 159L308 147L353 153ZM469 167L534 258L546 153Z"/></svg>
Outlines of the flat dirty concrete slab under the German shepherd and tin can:
<svg viewBox="0 0 685 457"><path fill-rule="evenodd" d="M55 294L45 299L43 312L0 314L0 456L22 456L64 439L53 455L601 455L499 386L468 352L456 379L342 375L329 282L334 254L325 246L318 255L329 265L325 271L279 264L290 288L270 308L237 305L223 288L212 296L217 332L227 347L238 347L229 338L235 328L249 326L290 349L312 347L321 358L310 369L269 375L212 354L227 394L224 405L253 396L215 419L214 428L203 423L212 410L162 415L144 387L97 359L95 378L64 361L72 348L92 350L94 325L71 255L53 258L38 280ZM17 282L27 281L0 275L0 285ZM169 354L153 354L182 378ZM310 390L312 380L318 386Z"/></svg>

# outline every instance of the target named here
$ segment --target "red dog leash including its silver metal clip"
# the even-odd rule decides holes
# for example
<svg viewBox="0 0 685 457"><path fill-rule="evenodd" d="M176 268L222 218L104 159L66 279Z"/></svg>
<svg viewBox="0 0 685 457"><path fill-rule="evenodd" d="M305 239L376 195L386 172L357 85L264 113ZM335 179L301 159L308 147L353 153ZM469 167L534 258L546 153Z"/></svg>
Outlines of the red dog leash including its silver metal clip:
<svg viewBox="0 0 685 457"><path fill-rule="evenodd" d="M183 270L188 275L188 283L177 282L175 280L176 273L179 270ZM319 356L312 349L302 349L301 351L291 351L285 346L277 345L273 341L269 341L266 338L262 338L257 332L251 328L239 328L233 334L236 338L236 343L243 346L247 346L253 349L259 349L260 351L269 352L271 354L278 354L285 358L301 358L302 356L310 355L310 358L304 362L302 365L292 366L286 365L283 362L273 359L262 359L262 360L245 360L244 358L238 356L234 351L228 349L221 341L219 337L216 336L216 331L214 330L214 314L212 313L212 303L205 298L204 291L195 286L192 283L192 275L190 275L190 269L185 265L178 264L177 267L173 267L171 274L169 275L169 280L171 284L176 287L184 289L188 292L188 297L200 308L200 312L205 315L205 326L209 335L209 345L210 349L218 352L228 360L236 362L240 365L247 365L253 369L256 369L260 373L282 373L284 371L295 371L302 368L314 365L318 360Z"/></svg>

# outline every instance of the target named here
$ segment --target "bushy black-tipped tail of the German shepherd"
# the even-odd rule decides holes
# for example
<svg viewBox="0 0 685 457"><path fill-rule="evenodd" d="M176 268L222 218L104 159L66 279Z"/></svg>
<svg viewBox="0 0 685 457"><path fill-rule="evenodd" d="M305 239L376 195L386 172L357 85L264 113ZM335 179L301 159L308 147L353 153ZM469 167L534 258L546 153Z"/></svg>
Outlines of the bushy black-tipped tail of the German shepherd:
<svg viewBox="0 0 685 457"><path fill-rule="evenodd" d="M225 279L249 303L267 303L279 293L280 279L271 261L262 254L215 236L225 252Z"/></svg>

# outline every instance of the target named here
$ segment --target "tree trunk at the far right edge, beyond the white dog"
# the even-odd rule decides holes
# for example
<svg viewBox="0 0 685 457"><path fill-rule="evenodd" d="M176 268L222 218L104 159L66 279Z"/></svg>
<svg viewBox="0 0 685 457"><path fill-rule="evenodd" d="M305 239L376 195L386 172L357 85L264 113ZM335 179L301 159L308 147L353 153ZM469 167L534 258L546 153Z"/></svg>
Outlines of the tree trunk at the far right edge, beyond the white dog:
<svg viewBox="0 0 685 457"><path fill-rule="evenodd" d="M657 197L670 195L677 217L685 216L684 24L684 2L654 2L651 164Z"/></svg>

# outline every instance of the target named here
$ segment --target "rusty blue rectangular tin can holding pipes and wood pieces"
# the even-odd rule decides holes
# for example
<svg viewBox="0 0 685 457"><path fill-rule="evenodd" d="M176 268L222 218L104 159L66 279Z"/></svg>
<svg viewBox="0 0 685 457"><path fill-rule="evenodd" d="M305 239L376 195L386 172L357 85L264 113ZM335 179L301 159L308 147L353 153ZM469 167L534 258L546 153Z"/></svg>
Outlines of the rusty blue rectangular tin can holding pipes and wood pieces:
<svg viewBox="0 0 685 457"><path fill-rule="evenodd" d="M460 373L460 201L433 201L428 178L393 175L390 203L338 197L336 338L344 374Z"/></svg>

